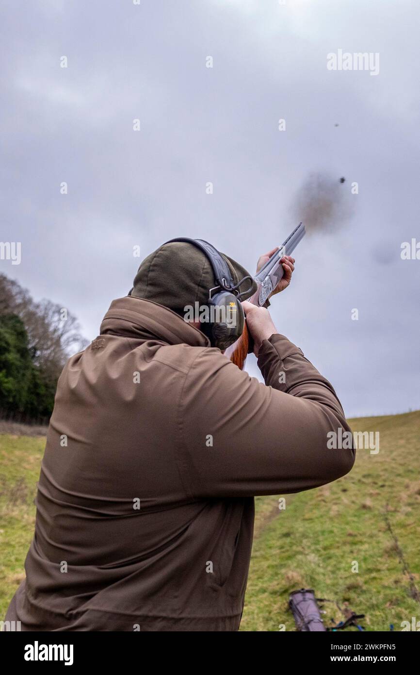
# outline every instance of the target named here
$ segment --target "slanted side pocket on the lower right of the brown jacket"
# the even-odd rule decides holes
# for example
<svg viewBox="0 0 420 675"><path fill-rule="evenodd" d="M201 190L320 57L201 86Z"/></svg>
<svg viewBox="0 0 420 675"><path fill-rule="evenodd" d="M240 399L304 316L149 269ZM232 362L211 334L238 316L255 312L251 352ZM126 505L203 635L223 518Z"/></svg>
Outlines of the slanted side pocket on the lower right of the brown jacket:
<svg viewBox="0 0 420 675"><path fill-rule="evenodd" d="M243 499L237 499L226 504L220 534L210 556L213 572L208 574L208 584L214 589L220 589L227 582L231 573L241 530L244 504Z"/></svg>

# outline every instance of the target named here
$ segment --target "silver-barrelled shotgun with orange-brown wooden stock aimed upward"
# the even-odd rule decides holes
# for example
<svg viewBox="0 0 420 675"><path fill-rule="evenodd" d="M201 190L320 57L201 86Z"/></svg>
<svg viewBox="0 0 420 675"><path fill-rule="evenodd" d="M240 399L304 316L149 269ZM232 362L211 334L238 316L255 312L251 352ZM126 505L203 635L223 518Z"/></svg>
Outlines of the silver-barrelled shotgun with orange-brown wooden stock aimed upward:
<svg viewBox="0 0 420 675"><path fill-rule="evenodd" d="M284 274L284 269L280 263L280 259L284 255L290 255L293 250L295 250L297 244L305 236L305 225L299 223L297 227L293 230L291 234L287 237L286 240L278 247L275 253L272 254L272 257L266 262L265 265L260 269L258 274L253 277L257 282L258 289L256 292L249 298L248 302L252 302L258 306L262 306L272 292L276 290L278 282ZM224 351L225 356L231 359L235 365L243 370L245 366L245 360L247 354L252 352L252 340L249 335L249 330L247 327L246 319L245 326L243 327L243 333L239 340L233 343L227 350Z"/></svg>

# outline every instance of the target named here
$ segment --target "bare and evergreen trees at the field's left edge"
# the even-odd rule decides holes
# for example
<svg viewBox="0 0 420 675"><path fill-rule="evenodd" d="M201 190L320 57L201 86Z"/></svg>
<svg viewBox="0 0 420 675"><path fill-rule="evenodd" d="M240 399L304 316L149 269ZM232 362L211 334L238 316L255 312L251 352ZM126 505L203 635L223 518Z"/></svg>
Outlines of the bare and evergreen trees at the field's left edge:
<svg viewBox="0 0 420 675"><path fill-rule="evenodd" d="M48 421L69 354L86 345L76 317L51 300L34 302L0 274L0 416Z"/></svg>

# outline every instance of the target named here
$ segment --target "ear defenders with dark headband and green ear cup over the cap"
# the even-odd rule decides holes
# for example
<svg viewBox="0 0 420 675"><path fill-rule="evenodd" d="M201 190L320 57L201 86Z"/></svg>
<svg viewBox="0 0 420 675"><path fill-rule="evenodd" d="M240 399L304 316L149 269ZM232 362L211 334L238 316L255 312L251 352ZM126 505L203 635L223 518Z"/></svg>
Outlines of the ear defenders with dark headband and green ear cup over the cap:
<svg viewBox="0 0 420 675"><path fill-rule="evenodd" d="M207 335L212 347L224 351L242 335L245 315L241 298L248 294L252 286L252 278L249 276L243 277L235 285L227 262L212 244L205 242L203 239L179 237L170 239L165 244L173 242L187 242L196 246L196 248L200 248L212 266L216 286L208 290L207 320L200 321L200 328ZM247 279L251 282L249 289L240 293L239 289Z"/></svg>

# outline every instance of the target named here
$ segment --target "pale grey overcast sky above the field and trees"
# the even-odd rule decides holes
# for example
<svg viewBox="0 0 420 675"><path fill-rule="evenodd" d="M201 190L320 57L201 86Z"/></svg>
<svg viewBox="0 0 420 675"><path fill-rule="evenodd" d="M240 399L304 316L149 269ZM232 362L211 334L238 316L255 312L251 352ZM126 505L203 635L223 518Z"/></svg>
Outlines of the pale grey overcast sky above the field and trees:
<svg viewBox="0 0 420 675"><path fill-rule="evenodd" d="M1 240L22 242L1 271L92 339L131 288L133 246L200 237L253 272L297 225L307 175L344 176L353 219L299 244L274 322L348 416L420 408L420 260L400 257L420 241L419 3L3 0L1 14ZM340 49L379 54L378 74L328 70Z"/></svg>

